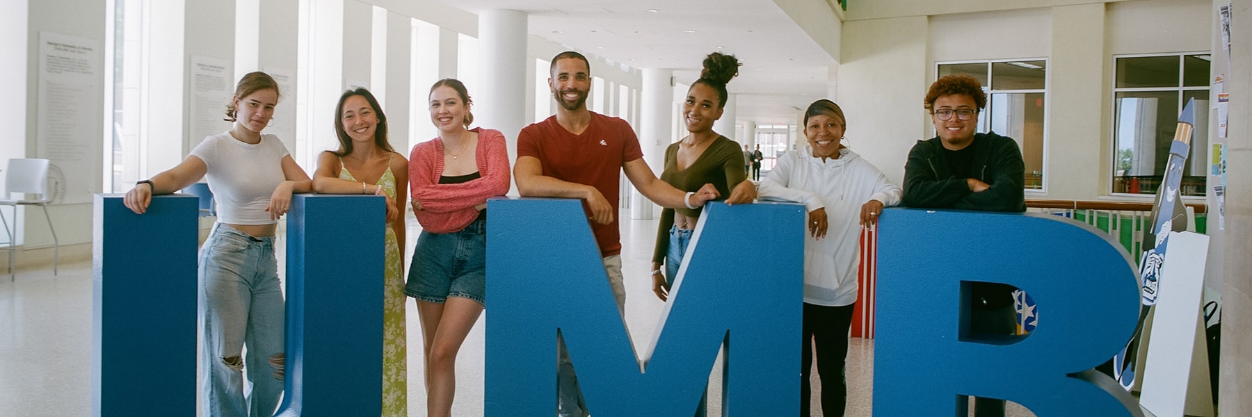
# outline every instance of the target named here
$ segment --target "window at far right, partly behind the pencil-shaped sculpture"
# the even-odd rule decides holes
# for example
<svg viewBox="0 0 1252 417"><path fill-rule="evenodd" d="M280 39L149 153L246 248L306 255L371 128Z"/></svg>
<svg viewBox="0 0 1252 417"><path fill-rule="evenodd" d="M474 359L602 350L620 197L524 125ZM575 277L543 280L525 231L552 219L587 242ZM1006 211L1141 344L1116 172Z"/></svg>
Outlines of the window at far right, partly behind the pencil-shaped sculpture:
<svg viewBox="0 0 1252 417"><path fill-rule="evenodd" d="M1178 129L1178 114L1196 99L1196 129L1183 167L1182 195L1204 195L1208 143L1208 54L1116 58L1113 85L1113 193L1156 194Z"/></svg>

